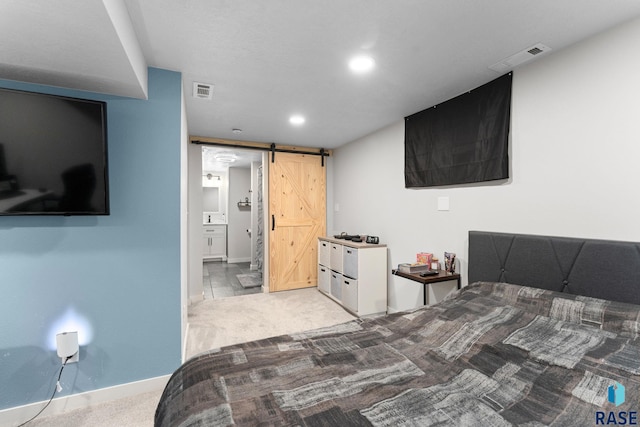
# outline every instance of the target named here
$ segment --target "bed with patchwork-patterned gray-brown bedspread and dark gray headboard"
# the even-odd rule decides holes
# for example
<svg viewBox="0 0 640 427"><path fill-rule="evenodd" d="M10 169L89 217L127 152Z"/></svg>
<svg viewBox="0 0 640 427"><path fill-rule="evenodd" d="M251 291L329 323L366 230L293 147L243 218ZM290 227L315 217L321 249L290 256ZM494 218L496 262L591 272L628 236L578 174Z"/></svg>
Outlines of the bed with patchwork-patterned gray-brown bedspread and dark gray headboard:
<svg viewBox="0 0 640 427"><path fill-rule="evenodd" d="M192 358L155 425L638 422L640 244L471 231L468 262L435 306Z"/></svg>

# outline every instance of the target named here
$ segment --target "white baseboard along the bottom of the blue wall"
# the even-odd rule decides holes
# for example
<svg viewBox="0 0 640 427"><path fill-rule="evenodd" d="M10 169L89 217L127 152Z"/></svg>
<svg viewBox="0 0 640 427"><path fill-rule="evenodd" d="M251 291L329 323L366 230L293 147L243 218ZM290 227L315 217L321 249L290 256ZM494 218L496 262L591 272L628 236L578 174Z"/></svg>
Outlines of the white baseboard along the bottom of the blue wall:
<svg viewBox="0 0 640 427"><path fill-rule="evenodd" d="M167 385L171 375L149 378L126 384L119 384L112 387L87 391L84 393L62 396L51 401L51 404L42 413L42 417L50 415L60 415L74 409L87 408L100 403L110 402L125 397L135 396L155 390L162 390ZM16 406L0 410L0 425L19 425L40 411L47 401L29 403L28 405Z"/></svg>

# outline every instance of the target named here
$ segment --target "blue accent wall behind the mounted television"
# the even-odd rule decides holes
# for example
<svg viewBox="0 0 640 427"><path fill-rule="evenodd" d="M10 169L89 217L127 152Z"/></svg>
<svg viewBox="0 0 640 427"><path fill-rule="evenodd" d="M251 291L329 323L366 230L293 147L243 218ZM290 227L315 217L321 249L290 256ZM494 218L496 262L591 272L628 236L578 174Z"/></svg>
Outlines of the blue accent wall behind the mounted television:
<svg viewBox="0 0 640 427"><path fill-rule="evenodd" d="M107 102L111 205L109 216L0 216L0 409L49 399L60 322L78 329L81 347L57 396L173 372L181 357L181 75L150 68L148 100L0 87Z"/></svg>

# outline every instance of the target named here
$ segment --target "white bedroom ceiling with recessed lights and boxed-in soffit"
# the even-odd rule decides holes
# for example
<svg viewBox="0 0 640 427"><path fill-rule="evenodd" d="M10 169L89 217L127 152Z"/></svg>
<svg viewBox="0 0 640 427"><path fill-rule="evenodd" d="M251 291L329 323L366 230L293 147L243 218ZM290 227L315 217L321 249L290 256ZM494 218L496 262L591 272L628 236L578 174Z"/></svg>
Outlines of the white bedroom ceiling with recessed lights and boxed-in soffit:
<svg viewBox="0 0 640 427"><path fill-rule="evenodd" d="M554 54L638 16L637 0L0 0L0 78L144 98L147 66L175 70L191 135L335 148L536 43ZM370 74L348 70L359 53Z"/></svg>

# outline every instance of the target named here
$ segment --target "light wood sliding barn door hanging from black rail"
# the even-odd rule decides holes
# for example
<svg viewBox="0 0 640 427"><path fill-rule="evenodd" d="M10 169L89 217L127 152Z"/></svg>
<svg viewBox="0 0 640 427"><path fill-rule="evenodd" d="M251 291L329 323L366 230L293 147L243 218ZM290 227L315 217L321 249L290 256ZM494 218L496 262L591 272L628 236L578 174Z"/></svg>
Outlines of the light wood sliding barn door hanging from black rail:
<svg viewBox="0 0 640 427"><path fill-rule="evenodd" d="M326 168L319 156L275 154L269 215L269 290L316 286L318 237L326 232Z"/></svg>

